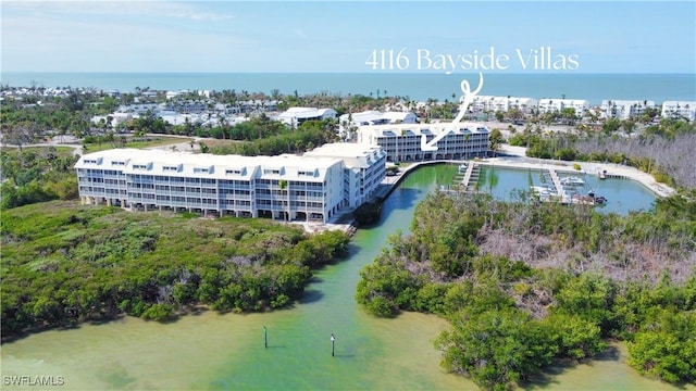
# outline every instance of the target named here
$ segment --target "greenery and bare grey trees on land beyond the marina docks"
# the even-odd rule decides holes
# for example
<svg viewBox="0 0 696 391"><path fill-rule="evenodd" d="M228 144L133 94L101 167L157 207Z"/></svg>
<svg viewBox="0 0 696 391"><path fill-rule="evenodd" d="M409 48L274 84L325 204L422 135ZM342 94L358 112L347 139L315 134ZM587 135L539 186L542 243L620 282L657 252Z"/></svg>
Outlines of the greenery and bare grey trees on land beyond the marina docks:
<svg viewBox="0 0 696 391"><path fill-rule="evenodd" d="M605 126L613 122L608 119ZM525 130L513 135L511 146L527 147L531 157L624 164L651 174L670 186L696 188L696 160L685 159L696 148L696 124L664 118L639 135L610 131L586 135L542 135Z"/></svg>

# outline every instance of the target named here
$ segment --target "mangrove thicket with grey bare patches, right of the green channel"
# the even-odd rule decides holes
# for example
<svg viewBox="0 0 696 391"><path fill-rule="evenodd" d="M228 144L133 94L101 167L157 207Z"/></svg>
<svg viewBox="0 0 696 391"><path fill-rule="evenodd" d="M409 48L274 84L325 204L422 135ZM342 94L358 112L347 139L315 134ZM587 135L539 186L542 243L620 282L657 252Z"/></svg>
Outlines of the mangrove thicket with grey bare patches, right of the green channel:
<svg viewBox="0 0 696 391"><path fill-rule="evenodd" d="M437 192L417 206L412 234L360 272L356 298L377 316L447 318L443 366L484 389L591 358L607 338L626 341L641 373L694 381L694 222L696 203L681 195L622 217Z"/></svg>

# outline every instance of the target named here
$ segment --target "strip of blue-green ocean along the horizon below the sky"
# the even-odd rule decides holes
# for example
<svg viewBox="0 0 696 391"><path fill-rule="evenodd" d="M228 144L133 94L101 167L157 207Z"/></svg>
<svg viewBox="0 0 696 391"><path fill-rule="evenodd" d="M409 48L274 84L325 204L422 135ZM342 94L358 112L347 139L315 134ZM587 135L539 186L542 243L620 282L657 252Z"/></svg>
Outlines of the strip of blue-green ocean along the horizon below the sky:
<svg viewBox="0 0 696 391"><path fill-rule="evenodd" d="M82 87L135 92L156 90L235 90L271 94L297 92L399 96L410 100L459 100L460 83L478 86L478 74L442 73L120 73L120 72L2 72L3 87ZM696 101L696 74L487 73L481 96L587 100Z"/></svg>

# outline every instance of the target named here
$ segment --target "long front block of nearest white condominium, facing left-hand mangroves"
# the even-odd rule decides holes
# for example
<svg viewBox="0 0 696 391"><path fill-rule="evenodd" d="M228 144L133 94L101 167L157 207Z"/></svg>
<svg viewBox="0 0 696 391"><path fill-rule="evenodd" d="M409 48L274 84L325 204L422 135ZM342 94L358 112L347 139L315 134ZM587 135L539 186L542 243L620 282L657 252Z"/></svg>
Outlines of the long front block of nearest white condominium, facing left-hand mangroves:
<svg viewBox="0 0 696 391"><path fill-rule="evenodd" d="M366 154L384 154L362 147L372 151ZM383 159L365 163L373 177L384 177ZM82 156L75 169L84 204L325 223L340 209L359 205L351 198L356 192L345 191L351 166L340 157L114 149Z"/></svg>

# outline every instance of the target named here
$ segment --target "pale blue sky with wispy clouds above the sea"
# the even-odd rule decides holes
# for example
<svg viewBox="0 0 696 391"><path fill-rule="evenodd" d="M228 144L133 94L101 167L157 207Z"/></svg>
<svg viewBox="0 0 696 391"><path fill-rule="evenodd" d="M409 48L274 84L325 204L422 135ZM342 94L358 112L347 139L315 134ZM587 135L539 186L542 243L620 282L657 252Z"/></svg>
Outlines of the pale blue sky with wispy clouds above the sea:
<svg viewBox="0 0 696 391"><path fill-rule="evenodd" d="M493 71L510 73L696 72L695 1L0 4L3 72L377 72L365 61L381 50L402 50L388 72L445 72L440 55L474 52L507 56Z"/></svg>

